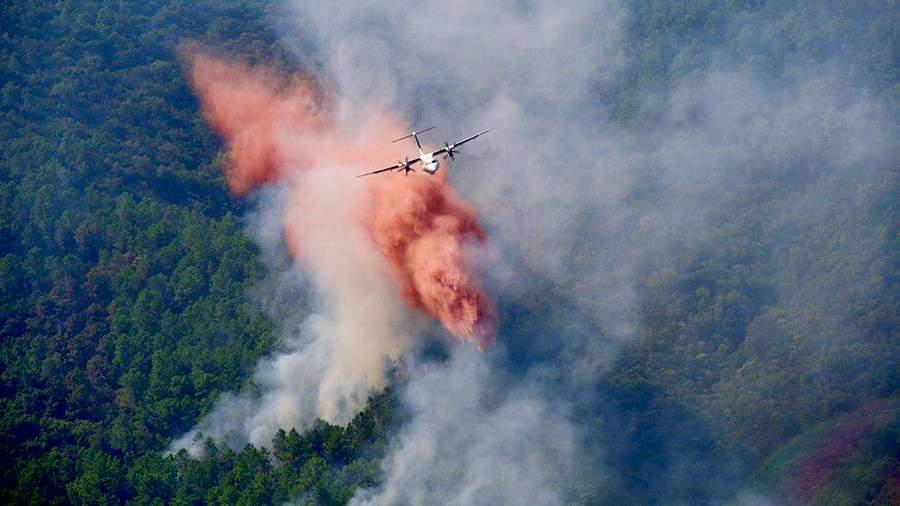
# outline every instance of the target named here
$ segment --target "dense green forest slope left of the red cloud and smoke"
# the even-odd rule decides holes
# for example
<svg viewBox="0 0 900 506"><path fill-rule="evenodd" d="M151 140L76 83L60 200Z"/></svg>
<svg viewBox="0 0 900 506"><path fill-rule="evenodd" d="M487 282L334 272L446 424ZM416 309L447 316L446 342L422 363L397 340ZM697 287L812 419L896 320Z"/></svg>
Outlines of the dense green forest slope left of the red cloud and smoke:
<svg viewBox="0 0 900 506"><path fill-rule="evenodd" d="M253 1L7 2L0 16L0 502L164 496L175 468L148 456L273 342L177 48L274 54L274 37Z"/></svg>

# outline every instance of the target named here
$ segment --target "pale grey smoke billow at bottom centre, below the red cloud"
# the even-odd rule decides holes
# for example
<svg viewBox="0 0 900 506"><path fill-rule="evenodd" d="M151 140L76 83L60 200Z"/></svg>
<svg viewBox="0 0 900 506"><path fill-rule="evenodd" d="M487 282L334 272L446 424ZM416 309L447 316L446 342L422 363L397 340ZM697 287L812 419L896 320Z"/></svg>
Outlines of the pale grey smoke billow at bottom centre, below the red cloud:
<svg viewBox="0 0 900 506"><path fill-rule="evenodd" d="M413 371L412 421L377 490L353 504L562 504L578 476L565 405L534 385L508 388L484 357L458 347L445 364Z"/></svg>

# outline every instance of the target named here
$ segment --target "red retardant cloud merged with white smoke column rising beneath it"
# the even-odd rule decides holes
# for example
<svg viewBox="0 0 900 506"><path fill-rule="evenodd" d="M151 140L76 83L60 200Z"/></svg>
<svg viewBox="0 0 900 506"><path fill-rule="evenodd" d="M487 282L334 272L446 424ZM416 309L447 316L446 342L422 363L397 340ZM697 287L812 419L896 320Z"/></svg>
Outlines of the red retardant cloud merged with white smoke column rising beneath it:
<svg viewBox="0 0 900 506"><path fill-rule="evenodd" d="M378 106L336 117L340 99L305 76L195 47L184 55L204 117L224 140L229 187L237 195L278 188L262 220L281 221L321 306L303 325L305 339L287 339L288 353L257 372L259 402L271 409L226 398L201 431L267 444L279 426L345 421L369 389L384 386L385 361L402 358L421 334L420 313L479 350L493 343L497 312L480 281L487 237L474 207L442 176L353 177L396 156L390 141L408 130L402 119ZM315 393L298 393L311 385Z"/></svg>

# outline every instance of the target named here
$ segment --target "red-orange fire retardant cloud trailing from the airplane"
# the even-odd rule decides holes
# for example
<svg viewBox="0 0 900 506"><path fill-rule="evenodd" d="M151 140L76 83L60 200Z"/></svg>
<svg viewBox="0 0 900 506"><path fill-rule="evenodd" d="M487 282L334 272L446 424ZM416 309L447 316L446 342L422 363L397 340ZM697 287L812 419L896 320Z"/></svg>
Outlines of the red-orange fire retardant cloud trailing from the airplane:
<svg viewBox="0 0 900 506"><path fill-rule="evenodd" d="M372 107L352 124L342 123L309 79L284 79L197 48L184 54L203 115L225 142L224 171L232 192L246 195L267 183L291 190L285 234L301 265L314 268L314 262L305 262L304 252L315 250L317 245L307 242L321 236L307 233L300 223L308 220L296 218L318 213L334 222L350 208L352 222L334 227L359 227L370 236L411 307L478 349L493 343L497 311L482 289L476 255L487 238L474 207L441 175L353 177L389 165L404 153L405 147L390 140L409 130L405 122ZM346 180L341 185L346 199L328 204L340 210L306 205L322 200L315 198L316 192L333 191L331 186L315 187L315 178L302 177L317 168ZM354 268L381 275L371 266Z"/></svg>

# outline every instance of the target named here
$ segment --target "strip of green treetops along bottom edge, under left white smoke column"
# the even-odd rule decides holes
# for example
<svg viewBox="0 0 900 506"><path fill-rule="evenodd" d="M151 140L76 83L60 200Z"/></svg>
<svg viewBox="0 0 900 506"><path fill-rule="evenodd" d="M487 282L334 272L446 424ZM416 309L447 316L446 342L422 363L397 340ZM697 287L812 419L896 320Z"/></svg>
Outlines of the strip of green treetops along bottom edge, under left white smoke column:
<svg viewBox="0 0 900 506"><path fill-rule="evenodd" d="M121 490L106 497L134 504L346 504L357 487L372 486L380 477L395 402L390 391L370 397L346 428L318 421L303 434L279 430L271 454L252 445L235 452L211 439L202 458L184 450L148 453L135 460ZM91 473L82 476L94 479ZM95 491L110 487L87 485Z"/></svg>

